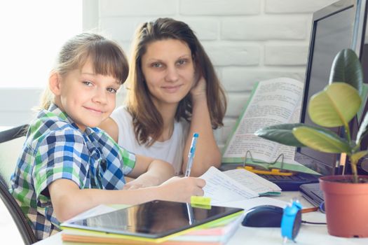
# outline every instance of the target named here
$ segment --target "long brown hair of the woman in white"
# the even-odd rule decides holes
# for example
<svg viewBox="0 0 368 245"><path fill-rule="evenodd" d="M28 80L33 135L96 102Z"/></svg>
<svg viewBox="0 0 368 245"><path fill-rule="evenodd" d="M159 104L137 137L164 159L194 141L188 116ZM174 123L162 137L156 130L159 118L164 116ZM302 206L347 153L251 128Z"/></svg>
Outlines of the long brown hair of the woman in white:
<svg viewBox="0 0 368 245"><path fill-rule="evenodd" d="M142 56L147 45L154 41L175 39L186 43L196 64L196 72L206 80L207 106L210 111L212 128L223 126L222 120L226 111L226 97L219 79L214 71L210 58L203 46L184 22L171 18L159 18L154 22L142 24L135 33L128 76L127 108L132 115L135 137L139 144L151 146L163 132L163 118L149 96L150 92L142 73ZM199 69L199 70L198 70ZM191 94L187 94L179 102L175 120L190 122L192 115Z"/></svg>

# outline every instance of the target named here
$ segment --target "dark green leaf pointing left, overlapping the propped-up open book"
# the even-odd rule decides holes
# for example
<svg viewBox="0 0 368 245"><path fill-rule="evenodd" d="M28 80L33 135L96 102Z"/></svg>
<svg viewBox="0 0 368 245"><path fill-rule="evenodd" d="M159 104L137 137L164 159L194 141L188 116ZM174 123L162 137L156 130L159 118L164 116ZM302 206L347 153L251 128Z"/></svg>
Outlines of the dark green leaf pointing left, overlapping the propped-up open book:
<svg viewBox="0 0 368 245"><path fill-rule="evenodd" d="M278 142L280 144L284 144L287 146L297 146L301 147L304 144L301 144L292 134L292 129L294 127L303 126L302 123L288 123L288 124L280 124L280 125L272 125L269 127L261 128L254 132L258 137L268 139L271 141Z"/></svg>

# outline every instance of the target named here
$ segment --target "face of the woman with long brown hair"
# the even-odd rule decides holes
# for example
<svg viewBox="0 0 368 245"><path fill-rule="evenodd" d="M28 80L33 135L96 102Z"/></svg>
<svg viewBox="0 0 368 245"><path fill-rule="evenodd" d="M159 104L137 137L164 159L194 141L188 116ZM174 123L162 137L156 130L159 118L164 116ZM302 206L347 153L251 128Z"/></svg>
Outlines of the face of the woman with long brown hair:
<svg viewBox="0 0 368 245"><path fill-rule="evenodd" d="M142 56L142 72L156 106L177 105L194 83L191 50L176 39L149 43Z"/></svg>

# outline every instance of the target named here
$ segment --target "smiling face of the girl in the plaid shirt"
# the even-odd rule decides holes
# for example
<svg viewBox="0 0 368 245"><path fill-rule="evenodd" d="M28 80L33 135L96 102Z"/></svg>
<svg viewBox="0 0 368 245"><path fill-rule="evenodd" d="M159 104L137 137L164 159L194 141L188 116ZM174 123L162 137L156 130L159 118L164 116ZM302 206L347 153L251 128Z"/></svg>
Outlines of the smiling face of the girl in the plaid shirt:
<svg viewBox="0 0 368 245"><path fill-rule="evenodd" d="M116 78L95 74L92 64L88 60L82 69L70 71L62 78L58 76L58 87L52 89L57 106L82 131L86 127L97 127L110 116L115 108L116 91L120 87Z"/></svg>

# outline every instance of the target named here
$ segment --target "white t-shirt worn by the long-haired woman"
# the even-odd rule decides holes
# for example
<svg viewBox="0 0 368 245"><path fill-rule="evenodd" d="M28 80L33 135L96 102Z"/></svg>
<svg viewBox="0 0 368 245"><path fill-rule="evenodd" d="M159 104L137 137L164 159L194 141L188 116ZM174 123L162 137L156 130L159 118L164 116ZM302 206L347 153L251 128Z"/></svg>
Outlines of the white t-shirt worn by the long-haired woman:
<svg viewBox="0 0 368 245"><path fill-rule="evenodd" d="M128 151L146 155L151 158L161 159L170 162L175 169L175 174L182 172L183 151L186 137L189 132L189 123L186 120L175 121L174 132L167 141L156 141L152 146L139 145L135 139L135 132L132 125L132 116L124 106L118 107L111 118L118 125L118 145Z"/></svg>

